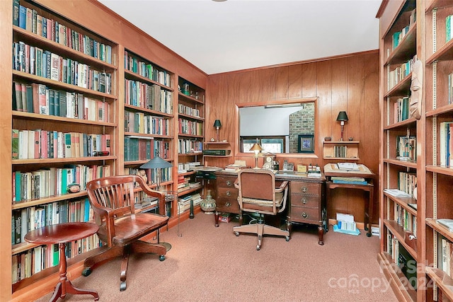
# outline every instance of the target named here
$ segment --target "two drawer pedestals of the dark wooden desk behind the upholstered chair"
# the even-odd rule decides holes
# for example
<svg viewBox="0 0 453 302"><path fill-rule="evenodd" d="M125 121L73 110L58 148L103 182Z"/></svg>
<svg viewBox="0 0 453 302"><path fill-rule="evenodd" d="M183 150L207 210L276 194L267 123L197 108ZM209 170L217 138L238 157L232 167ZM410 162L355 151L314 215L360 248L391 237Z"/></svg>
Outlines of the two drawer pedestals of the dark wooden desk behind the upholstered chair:
<svg viewBox="0 0 453 302"><path fill-rule="evenodd" d="M239 209L238 190L234 182L238 177L236 172L220 170L215 173L216 211L214 225L219 226L219 213L241 214ZM289 181L287 202L287 230L291 236L292 223L307 223L318 226L319 245L323 245L323 235L327 231L327 212L324 194L326 178L308 178L297 173L276 173L275 180ZM239 218L242 224L242 216Z"/></svg>

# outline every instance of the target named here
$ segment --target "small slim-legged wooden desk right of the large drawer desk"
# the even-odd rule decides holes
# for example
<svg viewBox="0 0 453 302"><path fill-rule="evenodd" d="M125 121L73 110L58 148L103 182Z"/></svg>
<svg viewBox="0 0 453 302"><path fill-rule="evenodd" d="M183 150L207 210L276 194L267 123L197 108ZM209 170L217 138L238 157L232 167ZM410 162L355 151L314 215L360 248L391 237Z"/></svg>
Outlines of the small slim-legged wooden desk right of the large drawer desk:
<svg viewBox="0 0 453 302"><path fill-rule="evenodd" d="M373 179L375 177L372 170L369 170L366 165L357 164L360 170L340 170L336 167L335 163L327 163L324 165L324 174L326 175L326 187L327 187L327 202L331 199L331 190L334 190L338 187L345 189L355 189L363 190L367 192L368 197L365 198L365 214L364 214L364 223L365 231L368 231L367 236L371 237L371 219L373 214ZM365 178L367 180L367 185L356 185L348 183L334 183L331 181L332 176L343 176L343 177L355 177L355 178Z"/></svg>

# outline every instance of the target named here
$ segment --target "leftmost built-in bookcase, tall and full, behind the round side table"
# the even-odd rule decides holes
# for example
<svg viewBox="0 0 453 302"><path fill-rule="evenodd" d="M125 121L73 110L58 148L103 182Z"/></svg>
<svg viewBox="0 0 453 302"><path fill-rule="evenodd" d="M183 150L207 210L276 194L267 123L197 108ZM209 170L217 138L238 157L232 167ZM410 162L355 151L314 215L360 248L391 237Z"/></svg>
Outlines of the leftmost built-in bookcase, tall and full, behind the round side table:
<svg viewBox="0 0 453 302"><path fill-rule="evenodd" d="M58 271L55 245L25 233L93 221L86 182L113 175L117 45L31 1L12 1L13 293ZM81 191L69 194L78 183ZM67 248L69 265L96 252L96 235Z"/></svg>

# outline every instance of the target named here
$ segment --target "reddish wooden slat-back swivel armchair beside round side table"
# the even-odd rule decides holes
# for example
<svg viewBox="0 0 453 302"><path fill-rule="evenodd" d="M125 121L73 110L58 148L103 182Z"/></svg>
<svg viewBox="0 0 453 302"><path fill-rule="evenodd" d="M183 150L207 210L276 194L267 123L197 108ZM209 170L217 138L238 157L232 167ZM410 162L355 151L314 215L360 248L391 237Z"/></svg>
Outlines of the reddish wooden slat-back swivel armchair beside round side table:
<svg viewBox="0 0 453 302"><path fill-rule="evenodd" d="M149 196L159 198L159 214L135 213L135 184ZM159 255L159 260L165 260L167 247L159 244L159 228L168 223L168 216L164 214L165 194L151 190L138 175L118 175L91 180L86 184L86 190L99 226L98 237L108 248L86 258L82 274L88 276L96 265L122 256L120 291L124 291L130 253L150 252ZM140 240L153 232L157 233L158 243Z"/></svg>

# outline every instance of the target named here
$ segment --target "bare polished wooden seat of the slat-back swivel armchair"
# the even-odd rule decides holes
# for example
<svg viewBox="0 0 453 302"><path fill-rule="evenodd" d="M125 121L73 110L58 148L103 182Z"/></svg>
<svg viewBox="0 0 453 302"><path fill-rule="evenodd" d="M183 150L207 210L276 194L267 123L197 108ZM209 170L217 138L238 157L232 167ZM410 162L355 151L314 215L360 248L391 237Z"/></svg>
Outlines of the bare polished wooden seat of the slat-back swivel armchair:
<svg viewBox="0 0 453 302"><path fill-rule="evenodd" d="M151 213L137 213L115 219L115 237L113 237L113 245L128 245L138 238L152 233L156 228L165 226L167 221L168 216ZM107 242L107 234L107 229L103 223L103 225L99 227L98 236L101 240Z"/></svg>

